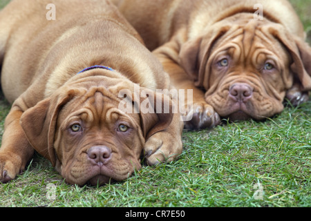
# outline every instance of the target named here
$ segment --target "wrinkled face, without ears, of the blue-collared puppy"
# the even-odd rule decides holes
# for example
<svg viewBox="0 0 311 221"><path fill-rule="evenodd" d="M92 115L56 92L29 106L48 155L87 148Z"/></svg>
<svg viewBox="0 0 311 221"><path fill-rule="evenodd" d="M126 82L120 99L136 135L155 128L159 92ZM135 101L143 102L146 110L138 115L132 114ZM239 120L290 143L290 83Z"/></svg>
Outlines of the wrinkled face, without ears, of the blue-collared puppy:
<svg viewBox="0 0 311 221"><path fill-rule="evenodd" d="M56 168L70 184L124 180L140 169L143 148L138 115L118 110L100 90L66 104L57 117Z"/></svg>

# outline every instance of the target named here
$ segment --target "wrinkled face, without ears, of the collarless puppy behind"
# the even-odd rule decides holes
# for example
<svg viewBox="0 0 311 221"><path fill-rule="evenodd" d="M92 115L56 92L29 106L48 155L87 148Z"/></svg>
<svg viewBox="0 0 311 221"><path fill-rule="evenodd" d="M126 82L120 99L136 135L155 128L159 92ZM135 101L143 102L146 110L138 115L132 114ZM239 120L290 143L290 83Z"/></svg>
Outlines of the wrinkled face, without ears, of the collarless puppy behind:
<svg viewBox="0 0 311 221"><path fill-rule="evenodd" d="M292 76L290 56L276 39L246 26L220 41L207 62L205 99L220 116L262 119L283 110Z"/></svg>

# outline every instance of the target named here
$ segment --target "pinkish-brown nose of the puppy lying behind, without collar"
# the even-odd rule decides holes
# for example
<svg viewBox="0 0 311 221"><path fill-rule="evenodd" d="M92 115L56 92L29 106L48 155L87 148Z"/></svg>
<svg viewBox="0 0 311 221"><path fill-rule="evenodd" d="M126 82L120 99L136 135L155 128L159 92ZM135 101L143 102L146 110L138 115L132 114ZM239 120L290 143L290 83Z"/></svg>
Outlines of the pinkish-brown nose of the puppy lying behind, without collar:
<svg viewBox="0 0 311 221"><path fill-rule="evenodd" d="M253 89L245 83L236 83L229 88L229 96L236 102L247 102L252 95Z"/></svg>

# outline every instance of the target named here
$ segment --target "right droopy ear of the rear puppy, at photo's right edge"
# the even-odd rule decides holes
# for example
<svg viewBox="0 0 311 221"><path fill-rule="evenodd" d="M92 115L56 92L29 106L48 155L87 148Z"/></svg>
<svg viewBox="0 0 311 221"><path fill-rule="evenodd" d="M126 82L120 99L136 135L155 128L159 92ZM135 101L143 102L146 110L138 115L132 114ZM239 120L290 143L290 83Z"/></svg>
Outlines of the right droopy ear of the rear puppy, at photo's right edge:
<svg viewBox="0 0 311 221"><path fill-rule="evenodd" d="M270 27L270 33L290 52L293 64L290 67L294 77L298 77L301 91L311 90L311 48L308 44L291 35L284 28Z"/></svg>

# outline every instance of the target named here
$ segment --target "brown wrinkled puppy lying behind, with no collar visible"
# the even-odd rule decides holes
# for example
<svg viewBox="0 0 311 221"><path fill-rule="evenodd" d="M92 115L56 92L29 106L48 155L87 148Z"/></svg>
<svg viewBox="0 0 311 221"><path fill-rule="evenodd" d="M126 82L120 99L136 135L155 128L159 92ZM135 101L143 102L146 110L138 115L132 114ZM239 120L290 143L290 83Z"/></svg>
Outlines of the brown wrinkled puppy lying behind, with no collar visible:
<svg viewBox="0 0 311 221"><path fill-rule="evenodd" d="M113 0L177 88L194 91L186 128L264 119L311 90L311 50L285 0Z"/></svg>

